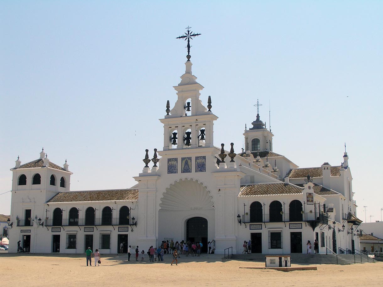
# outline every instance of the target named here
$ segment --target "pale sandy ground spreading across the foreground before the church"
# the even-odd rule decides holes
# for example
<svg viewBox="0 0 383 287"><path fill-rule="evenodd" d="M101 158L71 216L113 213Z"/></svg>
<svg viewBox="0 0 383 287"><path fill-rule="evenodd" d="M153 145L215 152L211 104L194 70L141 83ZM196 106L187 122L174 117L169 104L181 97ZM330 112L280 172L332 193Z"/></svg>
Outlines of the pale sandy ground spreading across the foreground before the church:
<svg viewBox="0 0 383 287"><path fill-rule="evenodd" d="M343 266L318 264L317 271L281 272L239 269L264 267L264 263L222 257L219 254L181 256L178 266L170 266L170 255L165 255L164 262L151 263L147 254L144 262L128 262L126 254L105 257L101 254L100 267L87 267L84 256L4 252L0 253L0 277L4 286L9 287L383 286L383 262Z"/></svg>

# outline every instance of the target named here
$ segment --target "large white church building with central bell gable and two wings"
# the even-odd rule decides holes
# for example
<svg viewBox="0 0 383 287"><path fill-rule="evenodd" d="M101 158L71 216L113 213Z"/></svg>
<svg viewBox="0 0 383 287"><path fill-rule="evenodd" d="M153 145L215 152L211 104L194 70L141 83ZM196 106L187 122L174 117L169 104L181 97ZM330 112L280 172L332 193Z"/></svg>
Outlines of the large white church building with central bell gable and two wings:
<svg viewBox="0 0 383 287"><path fill-rule="evenodd" d="M70 190L69 165L59 166L44 150L38 159L11 168L9 252L116 254L127 246L147 250L163 240L213 241L216 253L319 253L359 248L352 176L345 152L342 165L298 168L273 151L273 134L257 114L244 130L245 149L213 140L218 117L200 100L203 86L191 72L167 103L162 150L148 150L137 185L119 190ZM155 120L155 119L153 119ZM249 119L253 120L253 119ZM144 154L144 152L143 152ZM326 159L328 160L328 159ZM136 165L139 163L135 163ZM316 163L313 163L314 165Z"/></svg>

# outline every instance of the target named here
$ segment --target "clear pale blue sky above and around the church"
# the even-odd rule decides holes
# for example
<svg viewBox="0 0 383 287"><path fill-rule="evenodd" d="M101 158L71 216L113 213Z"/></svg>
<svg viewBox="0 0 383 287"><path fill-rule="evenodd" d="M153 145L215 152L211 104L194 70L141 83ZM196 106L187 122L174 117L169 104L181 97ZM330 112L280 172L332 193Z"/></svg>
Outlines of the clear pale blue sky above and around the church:
<svg viewBox="0 0 383 287"><path fill-rule="evenodd" d="M191 26L214 144L239 151L270 101L274 152L339 165L346 142L358 216L380 220L382 14L382 1L2 1L0 193L41 147L68 160L71 190L133 186L145 148L162 149L187 54L175 38Z"/></svg>

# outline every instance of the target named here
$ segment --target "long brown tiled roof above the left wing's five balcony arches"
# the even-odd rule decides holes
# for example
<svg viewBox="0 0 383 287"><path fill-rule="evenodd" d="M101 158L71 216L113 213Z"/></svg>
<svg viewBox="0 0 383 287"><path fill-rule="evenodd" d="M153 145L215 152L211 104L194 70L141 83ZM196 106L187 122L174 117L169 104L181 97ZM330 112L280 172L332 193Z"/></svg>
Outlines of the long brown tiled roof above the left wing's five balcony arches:
<svg viewBox="0 0 383 287"><path fill-rule="evenodd" d="M53 196L47 203L135 201L137 199L138 189L127 188L115 190L62 191Z"/></svg>

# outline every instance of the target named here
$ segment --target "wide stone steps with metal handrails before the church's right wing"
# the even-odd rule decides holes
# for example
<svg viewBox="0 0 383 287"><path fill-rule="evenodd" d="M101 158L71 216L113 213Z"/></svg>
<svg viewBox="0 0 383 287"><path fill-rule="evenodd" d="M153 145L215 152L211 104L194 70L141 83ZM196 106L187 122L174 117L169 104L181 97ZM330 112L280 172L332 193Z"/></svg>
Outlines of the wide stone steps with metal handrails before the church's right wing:
<svg viewBox="0 0 383 287"><path fill-rule="evenodd" d="M233 254L231 259L235 260L250 260L256 262L265 262L266 254L252 253L252 254ZM267 254L271 255L271 254ZM279 254L278 254L279 255ZM335 254L280 254L291 256L291 264L337 264L337 256ZM367 256L362 254L362 262L360 255L355 254L338 254L338 264L354 264L354 263L365 263L367 262ZM373 262L372 258L368 258L368 262Z"/></svg>

